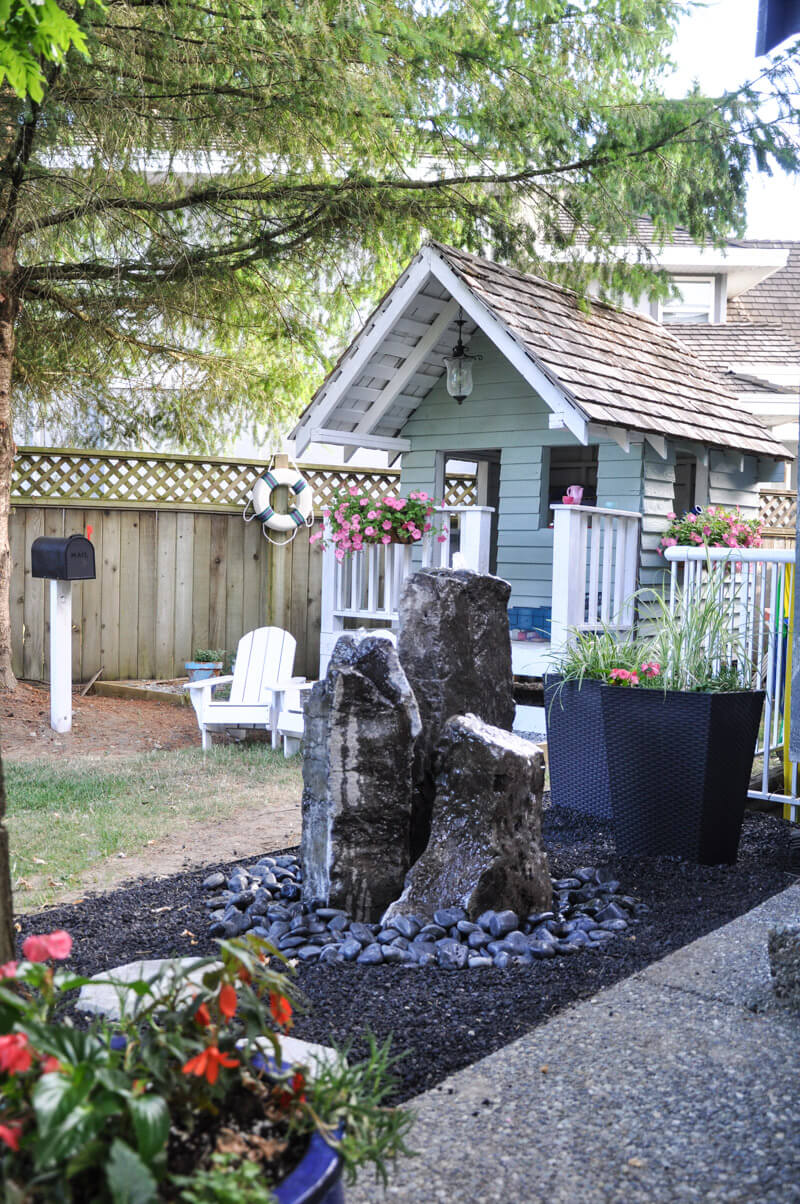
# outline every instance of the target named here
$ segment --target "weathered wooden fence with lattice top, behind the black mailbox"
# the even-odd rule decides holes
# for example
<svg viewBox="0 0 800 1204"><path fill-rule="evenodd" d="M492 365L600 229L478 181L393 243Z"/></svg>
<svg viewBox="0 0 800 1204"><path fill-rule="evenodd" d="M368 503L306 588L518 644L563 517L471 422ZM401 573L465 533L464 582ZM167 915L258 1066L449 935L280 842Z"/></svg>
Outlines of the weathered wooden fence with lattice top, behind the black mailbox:
<svg viewBox="0 0 800 1204"><path fill-rule="evenodd" d="M92 526L98 576L72 588L72 675L87 681L184 675L196 648L234 650L275 624L298 641L296 672L319 665L322 555L301 530L283 548L241 512L265 461L152 453L19 448L12 480L11 633L18 677L46 680L47 583L30 576L41 535ZM399 472L304 465L317 512L345 485L370 497ZM475 496L470 477L447 482L448 504Z"/></svg>

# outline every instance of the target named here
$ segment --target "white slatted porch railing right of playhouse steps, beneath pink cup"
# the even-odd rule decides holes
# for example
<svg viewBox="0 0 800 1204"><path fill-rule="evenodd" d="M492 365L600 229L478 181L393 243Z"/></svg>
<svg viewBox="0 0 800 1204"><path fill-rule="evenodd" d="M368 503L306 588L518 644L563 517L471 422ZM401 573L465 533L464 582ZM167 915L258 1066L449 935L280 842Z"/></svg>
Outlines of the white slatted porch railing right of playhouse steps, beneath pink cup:
<svg viewBox="0 0 800 1204"><path fill-rule="evenodd" d="M595 506L552 510L553 648L564 647L572 630L633 627L641 514Z"/></svg>

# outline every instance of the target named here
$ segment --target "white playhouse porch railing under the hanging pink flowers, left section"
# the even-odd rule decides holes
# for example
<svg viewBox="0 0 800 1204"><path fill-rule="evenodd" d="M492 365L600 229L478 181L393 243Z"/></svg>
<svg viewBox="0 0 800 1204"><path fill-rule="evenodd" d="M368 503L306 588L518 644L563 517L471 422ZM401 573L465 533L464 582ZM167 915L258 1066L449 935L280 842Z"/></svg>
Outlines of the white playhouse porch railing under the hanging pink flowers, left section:
<svg viewBox="0 0 800 1204"><path fill-rule="evenodd" d="M443 506L435 512L434 530L423 537L424 568L489 571L493 509L489 506ZM443 535L445 539L439 541ZM325 536L328 543L328 533ZM412 572L414 545L370 544L336 560L328 545L322 565L319 674L324 675L334 645L349 626L398 624L400 591Z"/></svg>

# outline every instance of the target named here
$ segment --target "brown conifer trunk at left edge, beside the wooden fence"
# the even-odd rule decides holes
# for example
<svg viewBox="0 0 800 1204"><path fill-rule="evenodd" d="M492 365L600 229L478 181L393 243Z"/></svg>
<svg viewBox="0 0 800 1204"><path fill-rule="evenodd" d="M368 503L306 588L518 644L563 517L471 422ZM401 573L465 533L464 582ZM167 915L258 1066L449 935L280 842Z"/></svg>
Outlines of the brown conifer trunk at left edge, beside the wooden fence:
<svg viewBox="0 0 800 1204"><path fill-rule="evenodd" d="M11 472L14 442L11 427L11 378L14 359L14 323L19 308L13 289L13 246L0 247L0 690L17 685L11 667ZM0 856L1 860L1 856Z"/></svg>

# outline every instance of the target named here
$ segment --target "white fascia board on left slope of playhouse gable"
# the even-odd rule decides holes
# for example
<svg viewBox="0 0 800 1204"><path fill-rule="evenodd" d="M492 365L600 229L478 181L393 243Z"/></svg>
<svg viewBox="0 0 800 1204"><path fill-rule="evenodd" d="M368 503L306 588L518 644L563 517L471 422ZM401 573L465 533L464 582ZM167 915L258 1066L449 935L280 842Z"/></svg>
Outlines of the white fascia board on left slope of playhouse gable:
<svg viewBox="0 0 800 1204"><path fill-rule="evenodd" d="M296 441L298 455L302 455L304 450L312 442L313 430L325 427L325 421L333 414L347 388L353 384L357 377L364 371L370 359L380 347L381 341L389 334L395 321L398 321L398 319L402 315L402 312L407 307L408 302L422 289L428 273L429 268L424 261L424 256L418 255L389 293L383 303L383 308L380 309L378 313L373 314L369 330L365 329L360 335L355 336L345 354L342 362L339 365L336 376L322 385L317 395L312 399L305 415L298 426L295 426L294 431L292 431L292 437ZM327 430L330 433L330 430ZM352 431L337 431L335 433L337 436L349 433L351 438L347 442L348 444L353 443ZM341 443L342 439L325 438L319 442ZM367 443L361 436L359 436L358 442L361 447L376 445L373 443Z"/></svg>

